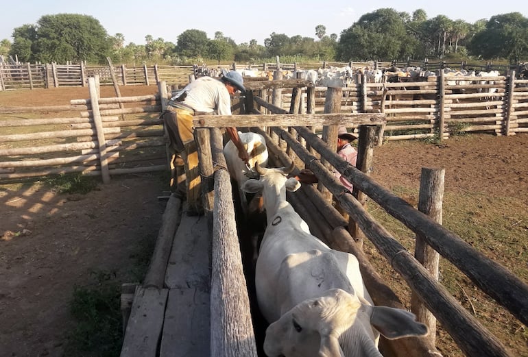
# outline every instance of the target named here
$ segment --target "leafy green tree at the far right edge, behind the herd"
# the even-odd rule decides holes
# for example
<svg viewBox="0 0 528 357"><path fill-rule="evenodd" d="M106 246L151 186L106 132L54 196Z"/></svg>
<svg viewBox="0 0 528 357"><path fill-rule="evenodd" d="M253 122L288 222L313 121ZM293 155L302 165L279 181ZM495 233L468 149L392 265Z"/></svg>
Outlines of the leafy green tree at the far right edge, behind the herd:
<svg viewBox="0 0 528 357"><path fill-rule="evenodd" d="M468 44L470 53L485 60L508 58L518 62L528 57L528 19L520 12L492 16L485 29Z"/></svg>

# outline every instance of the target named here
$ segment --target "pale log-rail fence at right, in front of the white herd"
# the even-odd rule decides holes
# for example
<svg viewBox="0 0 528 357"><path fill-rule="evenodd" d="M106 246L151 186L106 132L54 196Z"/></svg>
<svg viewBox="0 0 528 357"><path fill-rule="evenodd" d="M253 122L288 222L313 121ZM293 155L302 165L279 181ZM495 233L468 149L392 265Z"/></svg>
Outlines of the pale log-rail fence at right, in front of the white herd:
<svg viewBox="0 0 528 357"><path fill-rule="evenodd" d="M325 87L315 88L316 113L323 112L325 96ZM290 101L291 90L284 90L278 106L287 109ZM528 132L528 79L517 79L514 71L454 79L441 71L420 82L368 83L363 75L359 83L343 88L341 112L385 114L383 140L441 141L470 132L514 135Z"/></svg>

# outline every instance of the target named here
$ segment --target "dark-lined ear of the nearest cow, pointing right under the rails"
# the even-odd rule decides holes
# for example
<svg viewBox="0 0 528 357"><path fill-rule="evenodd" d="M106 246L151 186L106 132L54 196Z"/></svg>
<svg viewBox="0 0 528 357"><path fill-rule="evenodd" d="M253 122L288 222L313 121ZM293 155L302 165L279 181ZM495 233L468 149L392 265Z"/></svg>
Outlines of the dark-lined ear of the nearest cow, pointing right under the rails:
<svg viewBox="0 0 528 357"><path fill-rule="evenodd" d="M416 321L416 315L400 308L374 306L370 323L389 340L409 336L426 336L429 333L427 325Z"/></svg>

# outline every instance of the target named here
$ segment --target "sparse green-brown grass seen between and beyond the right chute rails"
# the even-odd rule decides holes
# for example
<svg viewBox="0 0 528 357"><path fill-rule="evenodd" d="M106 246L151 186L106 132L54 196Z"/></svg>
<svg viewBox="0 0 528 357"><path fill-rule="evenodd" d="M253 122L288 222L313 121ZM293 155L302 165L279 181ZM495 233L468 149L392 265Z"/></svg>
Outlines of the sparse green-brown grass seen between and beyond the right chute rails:
<svg viewBox="0 0 528 357"><path fill-rule="evenodd" d="M392 191L416 208L418 190L396 186ZM383 225L406 249L414 252L415 234L374 204L368 203L370 214ZM503 265L520 280L528 282L528 204L517 197L490 197L483 193L445 193L443 225L488 258ZM409 288L399 278L385 258L381 257L370 241L365 241L372 264L381 268L387 284L396 295L409 304ZM511 347L517 356L528 356L526 326L505 308L485 295L457 267L440 257L440 282L460 301L494 336ZM444 355L461 357L452 349L451 338L441 328L437 346Z"/></svg>

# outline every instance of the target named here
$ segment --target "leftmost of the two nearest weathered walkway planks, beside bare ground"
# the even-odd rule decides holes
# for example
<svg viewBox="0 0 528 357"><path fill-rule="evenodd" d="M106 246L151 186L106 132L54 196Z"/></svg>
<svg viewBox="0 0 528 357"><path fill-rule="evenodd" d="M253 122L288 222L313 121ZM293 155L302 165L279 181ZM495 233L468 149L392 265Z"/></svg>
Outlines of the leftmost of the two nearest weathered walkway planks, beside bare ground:
<svg viewBox="0 0 528 357"><path fill-rule="evenodd" d="M168 289L136 290L120 357L156 357L168 294Z"/></svg>

